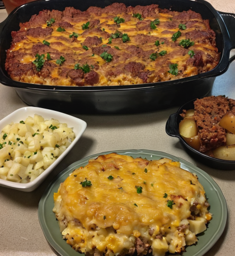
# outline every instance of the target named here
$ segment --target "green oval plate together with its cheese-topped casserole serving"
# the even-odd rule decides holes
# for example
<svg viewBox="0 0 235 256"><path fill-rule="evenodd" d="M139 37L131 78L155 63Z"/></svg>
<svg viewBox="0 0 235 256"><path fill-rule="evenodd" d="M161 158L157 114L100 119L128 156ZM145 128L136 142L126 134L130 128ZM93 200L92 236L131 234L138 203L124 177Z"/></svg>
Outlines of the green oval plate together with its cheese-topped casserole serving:
<svg viewBox="0 0 235 256"><path fill-rule="evenodd" d="M194 233L200 231L198 227L201 228L201 224L205 225L207 222L204 217L207 214L210 215L206 210L209 204L205 203L204 205L203 203L206 201L205 198L203 199L204 190L201 185L206 189L206 197L209 198L210 212L213 213L213 218L208 229L201 233L203 239L200 239L200 235L196 246L187 246L184 255L199 256L209 250L223 232L227 208L220 189L208 174L184 160L163 152L130 150L116 151L118 155L116 153L107 155L109 153L104 152L86 157L86 159L69 166L53 181L41 198L39 204L40 224L46 239L57 252L60 254L63 252L62 255L77 255L77 252L68 244L80 252L86 252L86 254L96 252L99 255L131 254L131 252L142 254L147 253L149 249L154 255L165 255L167 250L182 252L184 243L181 244L180 241L182 242L187 237L186 234L189 235L190 240L196 239ZM163 159L161 160L161 158ZM173 162L167 159L171 159ZM90 160L90 164L84 167L88 160ZM122 167L118 165L119 161L122 163ZM168 163L163 164L166 161ZM125 165L126 163L127 165ZM188 170L190 173L180 169L179 164L182 169ZM74 171L77 167L80 168ZM186 172L185 181L180 179L182 183L170 178L171 173L176 176L182 175L177 174L177 169ZM158 180L161 179L161 175L155 176L155 172L163 174L163 183ZM198 176L201 185L195 175ZM186 181L188 178L189 185ZM62 182L63 184L60 185ZM191 187L185 197L191 197L190 195L196 193L197 199L192 197L191 199L187 198L189 201L185 201L186 198L180 196L184 194L182 192L184 188L181 185L178 187L176 184L176 187L172 187L172 182L179 182L178 185L184 183L186 187ZM103 185L106 193L102 196ZM93 193L95 196L92 196ZM129 199L127 199L128 194L132 194ZM120 202L120 197L124 203ZM158 203L154 201L156 198ZM196 204L195 201L197 201ZM74 202L76 203L74 204ZM159 202L161 203L159 204ZM219 204L215 202L219 202ZM80 211L76 210L78 205L81 207ZM154 211L154 207L157 207L158 210ZM68 211L68 209L70 210ZM68 244L65 241L61 243L62 235L58 222L51 215L52 210L57 215L60 231L64 230L62 234ZM190 212L192 213L191 217L189 217ZM184 216L188 214L189 219L187 220L187 217L184 219ZM197 225L194 225L194 221L195 223L197 221L192 216L198 218ZM148 224L151 219L151 224ZM184 224L181 222L183 219ZM203 219L204 221L202 221ZM162 224L161 220L166 223ZM192 231L189 229L189 222ZM158 223L159 229L156 223ZM198 226L198 224L200 225ZM168 225L171 226L170 229L168 229L170 227ZM149 229L149 227L151 228ZM152 240L148 240L149 237L152 237ZM193 244L197 239L192 240ZM105 248L109 248L109 250ZM130 248L132 249L130 250Z"/></svg>

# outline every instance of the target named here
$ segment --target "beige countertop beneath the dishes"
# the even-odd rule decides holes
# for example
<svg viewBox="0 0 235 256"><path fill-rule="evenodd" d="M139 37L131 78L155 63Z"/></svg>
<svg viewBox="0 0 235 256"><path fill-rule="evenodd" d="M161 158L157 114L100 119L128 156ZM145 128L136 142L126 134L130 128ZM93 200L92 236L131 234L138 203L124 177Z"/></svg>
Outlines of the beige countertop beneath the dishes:
<svg viewBox="0 0 235 256"><path fill-rule="evenodd" d="M234 0L209 0L216 10L235 13ZM0 10L0 22L7 17ZM235 62L224 75L215 79L212 95L226 95L235 99ZM16 91L0 84L0 119L26 106ZM156 150L170 153L206 171L219 185L228 204L225 230L206 256L232 256L235 243L235 170L220 171L200 164L183 150L177 138L167 136L166 121L178 107L151 113L128 115L75 115L87 122L87 129L69 155L53 170L34 192L20 192L0 187L0 256L53 256L41 230L37 209L40 198L55 175L83 157L104 151L127 149Z"/></svg>

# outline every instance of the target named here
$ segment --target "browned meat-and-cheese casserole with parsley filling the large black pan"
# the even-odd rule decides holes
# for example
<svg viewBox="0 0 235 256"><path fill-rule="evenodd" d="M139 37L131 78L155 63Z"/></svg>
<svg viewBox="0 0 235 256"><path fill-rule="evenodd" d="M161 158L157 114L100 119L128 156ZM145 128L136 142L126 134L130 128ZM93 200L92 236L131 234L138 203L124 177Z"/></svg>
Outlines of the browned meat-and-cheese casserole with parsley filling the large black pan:
<svg viewBox="0 0 235 256"><path fill-rule="evenodd" d="M215 32L199 13L113 3L32 16L12 31L6 70L42 85L131 85L198 75L219 57Z"/></svg>

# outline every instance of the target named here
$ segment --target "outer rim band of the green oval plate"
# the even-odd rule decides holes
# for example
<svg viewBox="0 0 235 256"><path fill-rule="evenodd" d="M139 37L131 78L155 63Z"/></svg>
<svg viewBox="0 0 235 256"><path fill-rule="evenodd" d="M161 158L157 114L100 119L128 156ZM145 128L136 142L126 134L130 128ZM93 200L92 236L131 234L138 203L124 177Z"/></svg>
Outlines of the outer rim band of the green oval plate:
<svg viewBox="0 0 235 256"><path fill-rule="evenodd" d="M47 229L46 224L45 224L45 219L44 219L44 217L45 217L44 216L45 202L46 202L46 200L48 200L48 198L50 196L50 193L51 193L51 190L54 188L55 183L57 182L57 180L59 180L59 178L61 176L69 173L69 171L71 171L71 169L77 168L78 165L82 165L85 161L88 161L89 159L94 159L99 155L106 155L106 154L112 153L112 152L118 153L120 155L136 155L138 153L142 153L142 154L145 154L145 155L157 156L159 158L168 157L169 159L172 159L173 161L179 161L180 162L180 167L182 169L185 169L185 170L190 169L191 173L193 171L196 171L196 173L199 172L199 174L201 176L203 176L203 179L208 181L210 183L210 185L212 185L214 191L217 192L217 196L220 199L219 200L220 206L222 206L221 207L222 216L220 218L220 222L219 222L218 227L217 227L217 232L215 232L210 237L210 239L206 243L206 245L203 246L202 248L200 248L200 250L198 252L196 252L194 254L191 254L191 255L189 254L187 256L203 256L206 252L208 252L212 248L212 246L217 242L217 240L220 238L220 236L223 234L223 231L224 231L225 226L227 224L227 216L228 216L227 202L225 200L225 197L224 197L224 194L223 194L222 190L219 188L219 185L204 170L201 170L199 167L191 164L190 162L188 162L184 159L181 159L180 157L176 157L176 156L173 156L169 153L162 152L162 151L144 150L144 149L140 149L140 150L134 150L134 149L133 150L114 150L114 151L105 151L105 152L101 152L101 153L96 153L96 154L84 157L83 159L80 159L76 162L73 162L73 164L70 164L67 168L65 168L57 176L55 176L55 178L51 181L51 183L45 189L45 191L43 193L43 196L40 199L39 208L38 208L38 218L39 218L39 223L40 223L41 229L43 230L43 233L44 233L44 236L45 236L46 240L48 241L50 246L55 250L55 252L57 252L59 255L62 255L62 256L69 256L69 254L67 252L64 252L64 249L54 241L53 236L50 235L51 233ZM187 170L187 171L189 171L189 170ZM51 209L51 212L52 212L52 209ZM78 252L76 252L76 253L78 253ZM78 253L78 254L84 255L82 253ZM186 254L184 253L183 255L186 255Z"/></svg>

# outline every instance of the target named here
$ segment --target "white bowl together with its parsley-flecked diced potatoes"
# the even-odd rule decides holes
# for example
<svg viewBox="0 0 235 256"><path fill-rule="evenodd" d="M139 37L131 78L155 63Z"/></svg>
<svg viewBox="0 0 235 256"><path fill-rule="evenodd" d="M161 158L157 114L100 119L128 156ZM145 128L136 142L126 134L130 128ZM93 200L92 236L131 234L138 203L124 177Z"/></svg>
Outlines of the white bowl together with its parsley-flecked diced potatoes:
<svg viewBox="0 0 235 256"><path fill-rule="evenodd" d="M77 143L86 122L54 110L26 107L0 121L0 185L36 189Z"/></svg>

